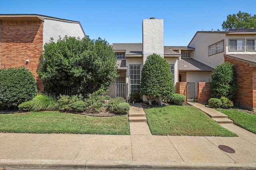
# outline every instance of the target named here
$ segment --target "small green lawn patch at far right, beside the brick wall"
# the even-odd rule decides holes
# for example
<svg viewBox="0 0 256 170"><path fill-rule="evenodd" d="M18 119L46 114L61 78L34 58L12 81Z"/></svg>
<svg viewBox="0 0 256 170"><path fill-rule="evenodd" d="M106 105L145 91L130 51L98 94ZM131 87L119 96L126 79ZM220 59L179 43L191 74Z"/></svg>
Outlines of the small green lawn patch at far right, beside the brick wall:
<svg viewBox="0 0 256 170"><path fill-rule="evenodd" d="M234 121L235 125L238 125L252 133L256 134L256 115L248 114L242 109L216 109L228 118Z"/></svg>

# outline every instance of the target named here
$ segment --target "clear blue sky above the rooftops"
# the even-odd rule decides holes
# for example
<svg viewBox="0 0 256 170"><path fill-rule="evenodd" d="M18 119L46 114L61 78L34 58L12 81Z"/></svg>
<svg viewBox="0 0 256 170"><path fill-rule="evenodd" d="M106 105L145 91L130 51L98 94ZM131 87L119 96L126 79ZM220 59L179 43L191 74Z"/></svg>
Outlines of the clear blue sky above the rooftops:
<svg viewBox="0 0 256 170"><path fill-rule="evenodd" d="M142 43L142 20L164 19L164 45L186 46L196 31L222 30L228 14L256 14L256 0L4 0L0 14L79 21L91 39Z"/></svg>

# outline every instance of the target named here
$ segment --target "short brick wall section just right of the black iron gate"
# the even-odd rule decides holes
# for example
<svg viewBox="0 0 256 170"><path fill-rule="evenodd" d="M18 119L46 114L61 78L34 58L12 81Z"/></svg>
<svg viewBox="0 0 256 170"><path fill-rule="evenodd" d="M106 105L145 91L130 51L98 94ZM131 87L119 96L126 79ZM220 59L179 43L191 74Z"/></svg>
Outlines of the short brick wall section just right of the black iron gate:
<svg viewBox="0 0 256 170"><path fill-rule="evenodd" d="M210 82L198 82L198 94L197 102L201 104L208 104L208 100L211 98L210 95Z"/></svg>

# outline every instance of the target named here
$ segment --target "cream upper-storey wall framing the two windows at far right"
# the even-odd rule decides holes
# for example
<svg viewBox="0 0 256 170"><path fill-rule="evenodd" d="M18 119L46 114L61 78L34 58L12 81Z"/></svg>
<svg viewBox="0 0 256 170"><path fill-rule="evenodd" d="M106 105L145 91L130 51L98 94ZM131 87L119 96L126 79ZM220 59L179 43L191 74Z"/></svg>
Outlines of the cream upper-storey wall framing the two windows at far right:
<svg viewBox="0 0 256 170"><path fill-rule="evenodd" d="M244 51L229 51L229 39L244 39ZM247 51L247 39L256 39L256 35L227 35L226 36L226 54L255 54L255 51Z"/></svg>

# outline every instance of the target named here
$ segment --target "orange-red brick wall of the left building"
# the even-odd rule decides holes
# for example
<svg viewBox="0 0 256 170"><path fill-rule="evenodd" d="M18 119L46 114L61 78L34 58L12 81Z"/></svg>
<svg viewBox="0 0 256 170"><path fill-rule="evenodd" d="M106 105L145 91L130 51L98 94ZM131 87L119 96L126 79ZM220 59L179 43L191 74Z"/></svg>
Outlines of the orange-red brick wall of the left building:
<svg viewBox="0 0 256 170"><path fill-rule="evenodd" d="M38 59L43 51L42 21L1 21L0 66L14 68L25 66L37 79L38 90L42 83L36 72ZM29 63L26 64L26 60Z"/></svg>

